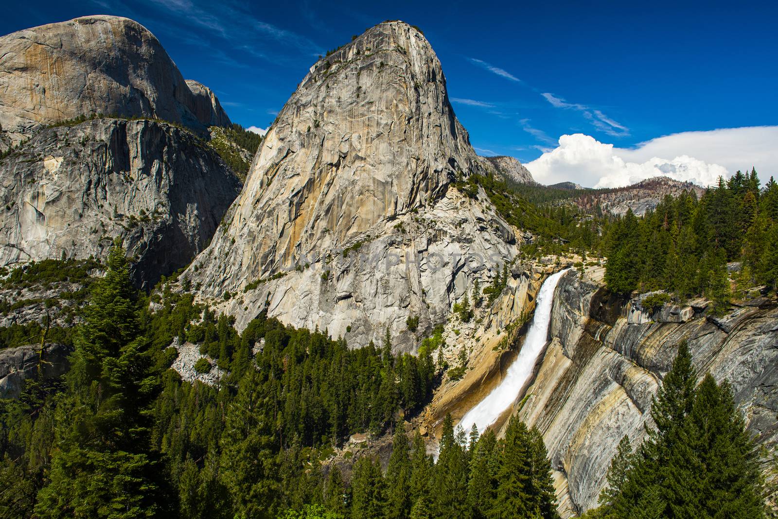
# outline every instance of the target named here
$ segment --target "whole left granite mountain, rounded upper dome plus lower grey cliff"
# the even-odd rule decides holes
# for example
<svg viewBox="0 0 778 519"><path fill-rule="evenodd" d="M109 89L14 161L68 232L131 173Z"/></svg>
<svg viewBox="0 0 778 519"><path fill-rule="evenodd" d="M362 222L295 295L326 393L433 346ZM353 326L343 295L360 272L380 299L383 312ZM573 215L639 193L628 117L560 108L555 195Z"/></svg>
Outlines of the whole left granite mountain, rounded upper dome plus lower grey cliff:
<svg viewBox="0 0 778 519"><path fill-rule="evenodd" d="M240 192L202 140L229 124L130 19L0 38L0 266L100 257L117 235L141 287L186 265Z"/></svg>

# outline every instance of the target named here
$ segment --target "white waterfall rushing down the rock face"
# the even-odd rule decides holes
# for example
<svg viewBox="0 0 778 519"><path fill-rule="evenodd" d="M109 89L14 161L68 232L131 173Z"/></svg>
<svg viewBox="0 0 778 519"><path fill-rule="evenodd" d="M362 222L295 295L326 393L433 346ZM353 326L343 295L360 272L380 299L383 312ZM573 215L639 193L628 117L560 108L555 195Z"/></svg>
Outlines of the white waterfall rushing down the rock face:
<svg viewBox="0 0 778 519"><path fill-rule="evenodd" d="M510 404L516 401L521 388L532 373L538 355L548 342L548 325L551 322L554 289L565 272L566 270L562 270L552 274L543 282L538 291L538 302L535 305L532 324L524 339L524 347L521 348L513 364L508 367L503 381L462 417L459 425L466 433L470 432L474 423L475 427L478 427L478 432L482 433L486 427L495 423Z"/></svg>

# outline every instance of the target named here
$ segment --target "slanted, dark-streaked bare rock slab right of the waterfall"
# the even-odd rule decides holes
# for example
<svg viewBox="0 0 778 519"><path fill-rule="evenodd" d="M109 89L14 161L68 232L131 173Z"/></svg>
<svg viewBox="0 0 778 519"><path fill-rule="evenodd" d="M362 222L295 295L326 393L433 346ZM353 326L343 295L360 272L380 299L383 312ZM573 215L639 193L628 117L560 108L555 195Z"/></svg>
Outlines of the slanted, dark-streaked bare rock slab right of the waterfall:
<svg viewBox="0 0 778 519"><path fill-rule="evenodd" d="M563 517L597 505L625 434L633 445L643 440L651 398L681 340L689 341L700 374L731 381L757 441L778 441L778 308L762 302L717 319L689 315L692 305L648 315L639 301L566 274L555 293L552 342L525 402L514 409L543 434Z"/></svg>

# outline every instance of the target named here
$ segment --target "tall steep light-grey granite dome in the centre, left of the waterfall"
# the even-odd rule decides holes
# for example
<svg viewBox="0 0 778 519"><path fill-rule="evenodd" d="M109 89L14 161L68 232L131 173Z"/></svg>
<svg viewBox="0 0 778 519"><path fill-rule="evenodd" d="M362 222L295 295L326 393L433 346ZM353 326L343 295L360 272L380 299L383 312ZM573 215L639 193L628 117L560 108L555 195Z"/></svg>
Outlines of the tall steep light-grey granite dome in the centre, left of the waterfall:
<svg viewBox="0 0 778 519"><path fill-rule="evenodd" d="M382 23L310 68L184 278L239 328L268 308L354 346L388 327L410 349L409 316L429 330L517 253L485 197L450 184L480 168L429 42Z"/></svg>

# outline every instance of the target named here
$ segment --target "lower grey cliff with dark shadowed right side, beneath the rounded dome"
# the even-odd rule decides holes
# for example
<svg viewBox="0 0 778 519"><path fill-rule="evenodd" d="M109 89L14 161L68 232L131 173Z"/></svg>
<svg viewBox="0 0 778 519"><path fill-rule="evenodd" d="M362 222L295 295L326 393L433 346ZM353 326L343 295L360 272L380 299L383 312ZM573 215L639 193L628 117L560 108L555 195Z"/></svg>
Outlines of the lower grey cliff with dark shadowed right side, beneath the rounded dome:
<svg viewBox="0 0 778 519"><path fill-rule="evenodd" d="M205 142L154 120L37 132L0 161L0 266L102 257L115 236L148 287L208 245L240 182Z"/></svg>

